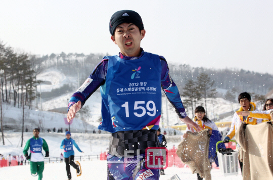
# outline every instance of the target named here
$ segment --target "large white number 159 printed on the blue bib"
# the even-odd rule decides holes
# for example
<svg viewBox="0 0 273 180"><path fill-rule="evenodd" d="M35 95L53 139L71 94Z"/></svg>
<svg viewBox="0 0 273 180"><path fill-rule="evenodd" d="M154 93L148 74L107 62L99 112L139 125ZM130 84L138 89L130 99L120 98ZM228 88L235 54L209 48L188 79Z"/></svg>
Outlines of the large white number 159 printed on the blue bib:
<svg viewBox="0 0 273 180"><path fill-rule="evenodd" d="M152 108L150 108L150 104L152 104ZM128 102L126 101L123 105L121 105L121 107L125 108L126 117L129 117ZM155 116L155 114L156 114L156 107L155 107L155 103L153 101L148 101L147 104L146 104L146 108L145 108L145 101L135 101L133 109L134 110L137 110L137 109L141 109L142 110L141 114L138 114L136 112L133 113L136 117L142 117L142 116L144 116L146 114L146 109L148 111L152 111L152 113L151 112L147 112L147 114L149 116Z"/></svg>

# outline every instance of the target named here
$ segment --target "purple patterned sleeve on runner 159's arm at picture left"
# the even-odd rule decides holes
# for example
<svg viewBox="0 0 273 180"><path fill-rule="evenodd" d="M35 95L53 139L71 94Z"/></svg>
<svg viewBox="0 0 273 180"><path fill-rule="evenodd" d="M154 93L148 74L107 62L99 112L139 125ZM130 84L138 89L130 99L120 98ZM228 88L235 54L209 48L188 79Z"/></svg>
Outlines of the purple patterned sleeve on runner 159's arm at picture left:
<svg viewBox="0 0 273 180"><path fill-rule="evenodd" d="M84 83L77 89L77 91L71 96L68 104L67 112L69 108L77 103L81 102L81 107L85 101L101 86L105 83L105 78L108 68L108 59L103 59Z"/></svg>

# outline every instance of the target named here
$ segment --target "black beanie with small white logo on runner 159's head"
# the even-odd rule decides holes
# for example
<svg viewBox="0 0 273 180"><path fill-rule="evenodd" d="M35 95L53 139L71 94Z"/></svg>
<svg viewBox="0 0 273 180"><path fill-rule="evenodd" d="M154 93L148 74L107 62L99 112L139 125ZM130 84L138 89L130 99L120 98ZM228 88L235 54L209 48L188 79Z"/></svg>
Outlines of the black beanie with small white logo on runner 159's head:
<svg viewBox="0 0 273 180"><path fill-rule="evenodd" d="M109 31L111 35L115 34L116 27L122 23L133 23L140 30L144 29L144 25L139 13L131 10L117 11L113 14L109 23Z"/></svg>

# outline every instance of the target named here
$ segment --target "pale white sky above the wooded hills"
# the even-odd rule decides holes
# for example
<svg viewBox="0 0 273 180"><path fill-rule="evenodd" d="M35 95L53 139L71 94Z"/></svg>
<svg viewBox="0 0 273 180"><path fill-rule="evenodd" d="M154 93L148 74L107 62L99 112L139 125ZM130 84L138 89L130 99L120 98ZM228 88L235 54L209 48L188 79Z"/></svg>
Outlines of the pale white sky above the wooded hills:
<svg viewBox="0 0 273 180"><path fill-rule="evenodd" d="M0 40L27 53L109 53L109 20L138 12L145 51L194 67L273 74L273 1L0 0Z"/></svg>

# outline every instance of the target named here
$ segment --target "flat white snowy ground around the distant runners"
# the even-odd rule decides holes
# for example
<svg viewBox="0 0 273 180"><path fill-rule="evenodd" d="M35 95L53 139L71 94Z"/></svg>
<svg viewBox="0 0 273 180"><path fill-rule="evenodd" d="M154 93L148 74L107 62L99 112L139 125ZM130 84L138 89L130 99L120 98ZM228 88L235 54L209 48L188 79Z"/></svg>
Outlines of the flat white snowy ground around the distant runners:
<svg viewBox="0 0 273 180"><path fill-rule="evenodd" d="M60 149L60 145L62 140L65 138L64 133L40 133L40 137L44 138L50 149L50 157L59 157L60 153L63 152ZM80 147L80 149L84 153L79 153L75 150L75 156L85 156L87 155L98 155L101 152L105 152L109 146L110 134L86 134L86 133L72 133L72 138L75 139L76 143ZM21 134L19 132L7 132L5 135L8 140L13 144L9 143L7 139L5 139L6 145L3 146L2 142L0 142L0 153L4 154L5 157L8 154L11 155L20 155L23 152L23 148L20 147ZM27 141L32 137L31 132L24 133L24 140ZM167 148L170 149L173 147L177 147L180 143L180 135L178 136L166 136L167 139ZM19 144L19 146L18 146ZM24 147L25 143L23 144ZM18 147L17 147L18 146ZM82 166L82 175L76 177L76 172L74 169L72 172L72 179L107 179L107 164L106 161L101 161L97 159L93 159L92 161L80 161ZM30 175L29 165L23 166L12 166L12 167L2 167L0 168L0 180L6 179L15 179L15 180L23 180L23 179L37 179L37 177L32 177ZM16 172L16 173L14 173ZM178 168L178 167L168 167L165 170L166 175L161 175L160 180L168 179L175 173L180 177L180 179L196 179L196 174L192 174L189 168ZM230 179L242 179L241 175L238 176L227 176L224 177L220 174L219 169L212 169L212 179L221 180L230 180ZM240 170L239 170L240 174ZM45 164L43 179L67 179L65 163L47 163Z"/></svg>

